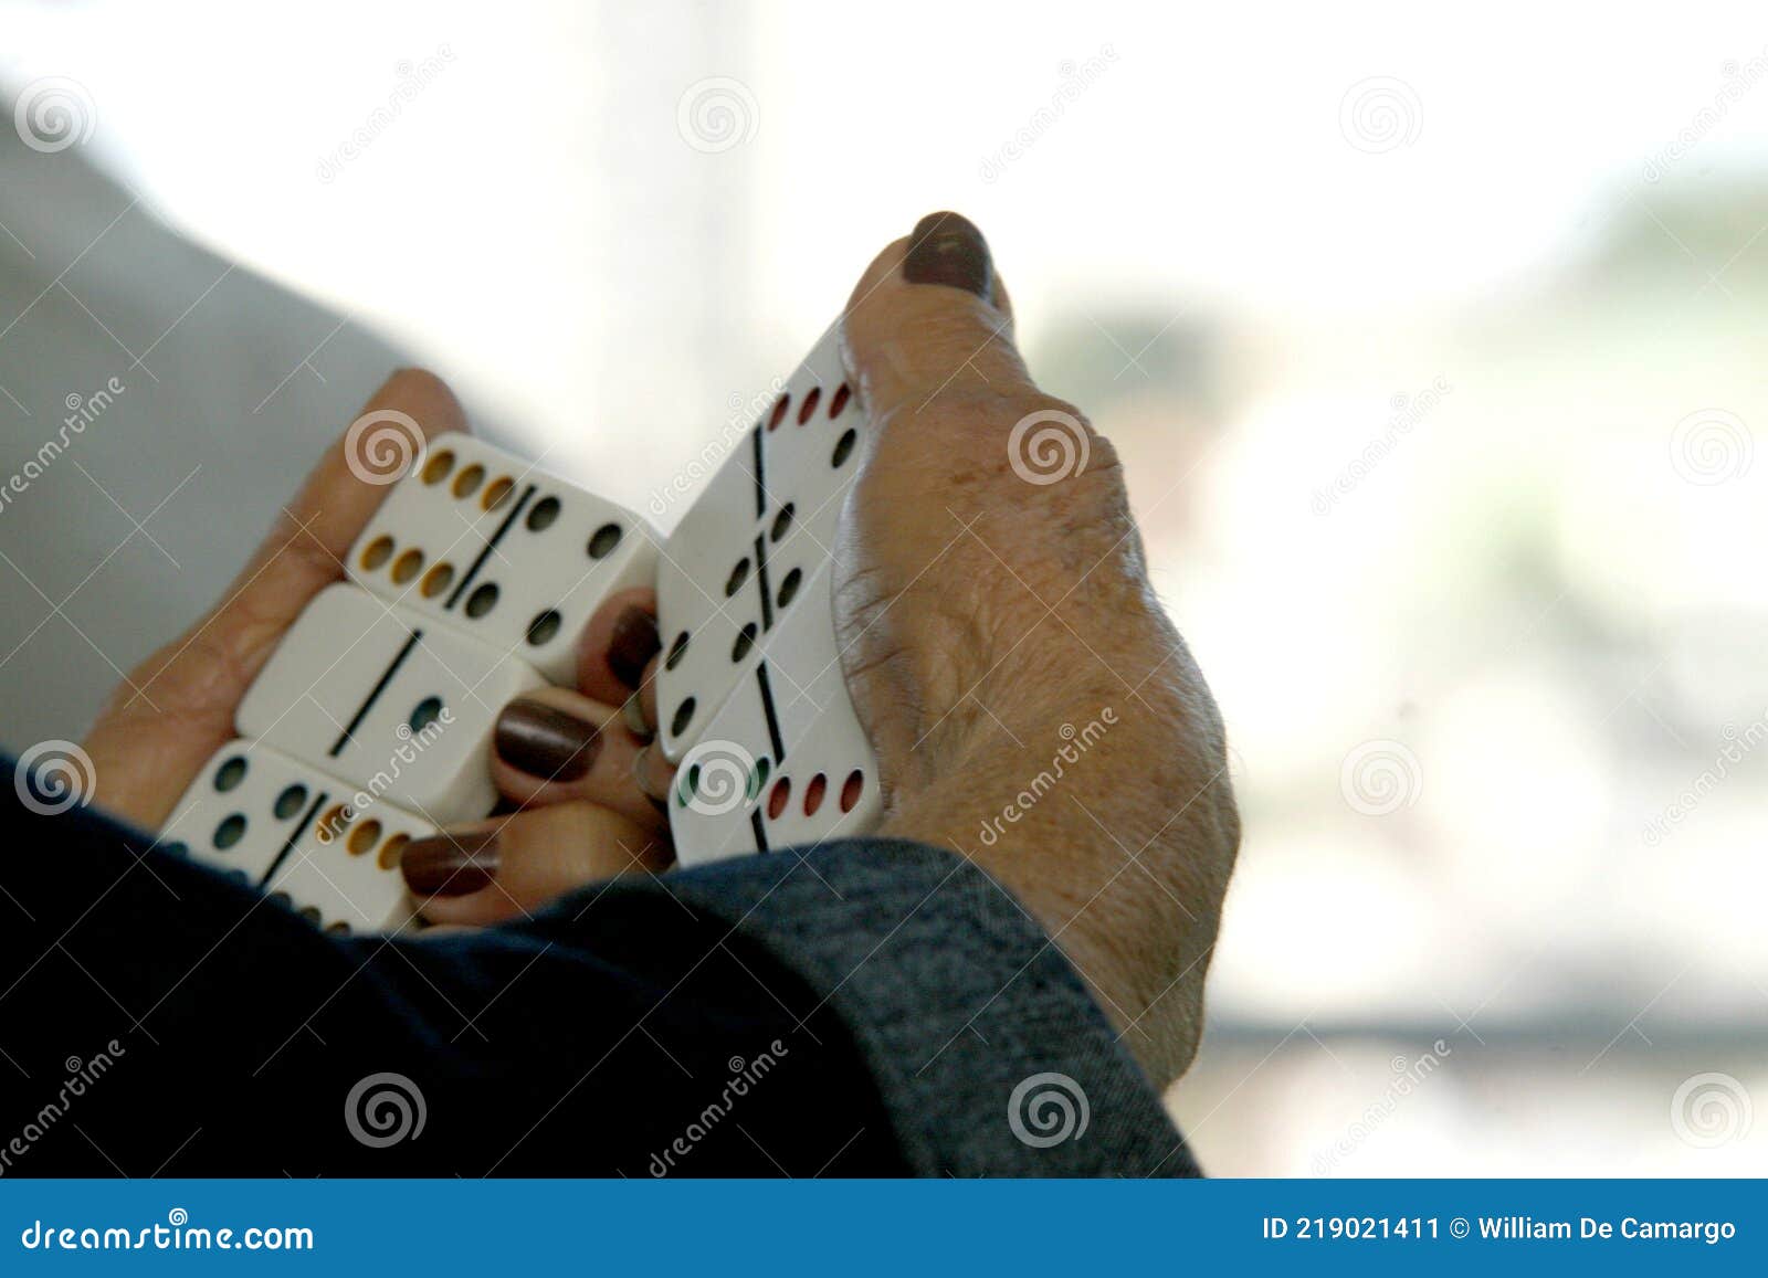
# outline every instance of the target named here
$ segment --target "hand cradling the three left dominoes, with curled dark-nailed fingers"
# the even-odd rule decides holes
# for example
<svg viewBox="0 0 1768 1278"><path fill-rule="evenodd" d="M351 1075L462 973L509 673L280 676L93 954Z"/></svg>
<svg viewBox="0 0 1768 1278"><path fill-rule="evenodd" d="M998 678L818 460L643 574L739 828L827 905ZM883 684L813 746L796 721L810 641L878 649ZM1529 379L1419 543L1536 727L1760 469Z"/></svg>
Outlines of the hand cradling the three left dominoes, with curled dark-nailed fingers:
<svg viewBox="0 0 1768 1278"><path fill-rule="evenodd" d="M403 414L426 438L467 430L449 389L415 369L394 373L368 401L364 415L373 412ZM295 617L343 580L345 555L385 495L352 468L343 438L325 453L221 603L113 691L85 742L101 806L145 829L166 820L233 737L233 711ZM670 863L663 817L633 781L640 741L619 709L654 650L654 624L644 647L654 606L649 590L610 599L580 640L578 689L548 688L506 707L499 790L541 806L410 843L403 868L428 917L522 916L582 882Z"/></svg>

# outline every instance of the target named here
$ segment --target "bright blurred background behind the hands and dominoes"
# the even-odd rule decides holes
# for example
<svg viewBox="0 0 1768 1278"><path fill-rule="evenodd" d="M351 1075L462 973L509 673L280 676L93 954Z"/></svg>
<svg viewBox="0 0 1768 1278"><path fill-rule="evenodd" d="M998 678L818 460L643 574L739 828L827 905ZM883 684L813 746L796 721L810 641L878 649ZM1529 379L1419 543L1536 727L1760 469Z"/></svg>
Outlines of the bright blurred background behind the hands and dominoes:
<svg viewBox="0 0 1768 1278"><path fill-rule="evenodd" d="M1759 4L0 4L0 88L9 749L394 362L667 527L958 209L1229 723L1204 1165L1768 1172Z"/></svg>

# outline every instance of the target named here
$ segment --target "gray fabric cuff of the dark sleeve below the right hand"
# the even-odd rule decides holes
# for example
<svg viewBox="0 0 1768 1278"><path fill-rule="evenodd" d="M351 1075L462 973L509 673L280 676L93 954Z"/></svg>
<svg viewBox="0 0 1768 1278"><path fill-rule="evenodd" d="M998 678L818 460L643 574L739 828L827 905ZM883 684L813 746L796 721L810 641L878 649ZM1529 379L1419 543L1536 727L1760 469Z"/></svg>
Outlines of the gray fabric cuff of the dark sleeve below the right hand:
<svg viewBox="0 0 1768 1278"><path fill-rule="evenodd" d="M1061 949L969 861L900 840L787 848L668 891L847 1025L921 1175L1199 1175Z"/></svg>

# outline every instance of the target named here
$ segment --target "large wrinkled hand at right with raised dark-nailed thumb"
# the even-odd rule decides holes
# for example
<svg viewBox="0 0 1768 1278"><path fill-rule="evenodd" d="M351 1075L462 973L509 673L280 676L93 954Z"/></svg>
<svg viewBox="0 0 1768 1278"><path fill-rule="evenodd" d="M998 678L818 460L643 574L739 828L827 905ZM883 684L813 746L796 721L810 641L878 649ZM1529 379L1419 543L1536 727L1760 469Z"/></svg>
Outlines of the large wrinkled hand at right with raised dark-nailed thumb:
<svg viewBox="0 0 1768 1278"><path fill-rule="evenodd" d="M1222 721L1147 583L1110 442L1031 380L981 233L934 214L854 290L872 417L836 629L882 834L972 857L1156 1084L1190 1064L1239 845Z"/></svg>

